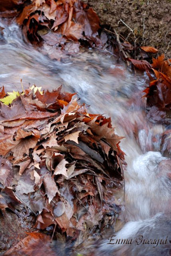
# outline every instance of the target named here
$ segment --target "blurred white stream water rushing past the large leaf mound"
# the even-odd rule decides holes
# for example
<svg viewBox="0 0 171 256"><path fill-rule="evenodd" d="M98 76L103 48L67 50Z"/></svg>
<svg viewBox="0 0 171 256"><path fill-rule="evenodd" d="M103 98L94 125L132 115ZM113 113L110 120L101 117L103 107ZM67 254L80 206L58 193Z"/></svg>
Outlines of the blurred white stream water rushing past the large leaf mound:
<svg viewBox="0 0 171 256"><path fill-rule="evenodd" d="M77 92L80 101L90 105L90 112L111 116L116 133L125 136L120 143L127 162L121 219L127 223L116 237L132 238L133 242L120 245L115 240L113 245L103 240L97 255L169 255L171 162L160 153L165 128L145 116L145 98L141 98L147 84L145 74L132 74L116 56L94 49L82 50L62 62L50 60L24 42L14 22L0 20L0 27L4 27L0 35L0 86L6 91L21 90L20 79L25 88L29 83L48 89L63 84L64 90ZM123 202L122 193L119 200ZM168 238L165 244L154 243L156 248L152 242L138 244L138 236Z"/></svg>

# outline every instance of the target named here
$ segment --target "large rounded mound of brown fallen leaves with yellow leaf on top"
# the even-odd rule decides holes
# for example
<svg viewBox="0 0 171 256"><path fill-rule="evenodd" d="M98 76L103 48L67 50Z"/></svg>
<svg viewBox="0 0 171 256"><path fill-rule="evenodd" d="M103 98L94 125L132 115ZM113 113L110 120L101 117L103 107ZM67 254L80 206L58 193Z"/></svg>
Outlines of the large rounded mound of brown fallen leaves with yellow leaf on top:
<svg viewBox="0 0 171 256"><path fill-rule="evenodd" d="M20 215L25 205L35 228L55 225L76 239L114 222L124 154L111 119L88 114L73 95L29 88L8 106L13 95L2 88L0 209Z"/></svg>

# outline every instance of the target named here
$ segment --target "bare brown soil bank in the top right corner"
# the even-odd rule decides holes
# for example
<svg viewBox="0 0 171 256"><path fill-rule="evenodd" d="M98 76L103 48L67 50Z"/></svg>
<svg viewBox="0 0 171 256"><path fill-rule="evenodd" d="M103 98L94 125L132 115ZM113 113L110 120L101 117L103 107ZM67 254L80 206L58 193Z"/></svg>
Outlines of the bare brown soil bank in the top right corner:
<svg viewBox="0 0 171 256"><path fill-rule="evenodd" d="M171 58L171 0L85 0L101 25L133 45L152 46ZM130 28L128 28L129 26Z"/></svg>

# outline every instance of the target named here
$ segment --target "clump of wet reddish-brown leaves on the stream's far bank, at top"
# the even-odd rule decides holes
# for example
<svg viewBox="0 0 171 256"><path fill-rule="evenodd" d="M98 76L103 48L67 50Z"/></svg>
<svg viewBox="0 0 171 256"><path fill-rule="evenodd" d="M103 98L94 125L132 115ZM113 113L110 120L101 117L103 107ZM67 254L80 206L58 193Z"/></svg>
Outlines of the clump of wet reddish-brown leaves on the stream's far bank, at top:
<svg viewBox="0 0 171 256"><path fill-rule="evenodd" d="M17 18L25 38L52 59L79 52L80 44L101 44L99 17L80 0L32 0Z"/></svg>

